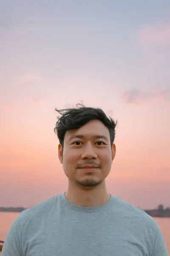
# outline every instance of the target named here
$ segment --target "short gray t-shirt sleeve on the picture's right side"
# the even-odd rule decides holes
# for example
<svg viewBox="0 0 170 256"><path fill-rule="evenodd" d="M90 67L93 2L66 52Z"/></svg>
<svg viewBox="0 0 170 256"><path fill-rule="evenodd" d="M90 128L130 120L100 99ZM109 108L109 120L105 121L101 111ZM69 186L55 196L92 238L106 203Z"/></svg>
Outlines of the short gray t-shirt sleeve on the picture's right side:
<svg viewBox="0 0 170 256"><path fill-rule="evenodd" d="M167 252L167 247L164 241L163 234L159 226L156 229L156 236L154 241L154 247L151 256L169 256Z"/></svg>

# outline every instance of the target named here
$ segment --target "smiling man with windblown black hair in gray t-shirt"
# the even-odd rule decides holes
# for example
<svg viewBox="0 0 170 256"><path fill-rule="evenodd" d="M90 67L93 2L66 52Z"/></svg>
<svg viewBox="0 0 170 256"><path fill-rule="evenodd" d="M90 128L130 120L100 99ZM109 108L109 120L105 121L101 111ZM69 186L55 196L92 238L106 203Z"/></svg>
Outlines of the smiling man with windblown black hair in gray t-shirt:
<svg viewBox="0 0 170 256"><path fill-rule="evenodd" d="M59 111L55 131L68 189L14 221L3 256L168 256L156 221L110 195L116 123L98 108Z"/></svg>

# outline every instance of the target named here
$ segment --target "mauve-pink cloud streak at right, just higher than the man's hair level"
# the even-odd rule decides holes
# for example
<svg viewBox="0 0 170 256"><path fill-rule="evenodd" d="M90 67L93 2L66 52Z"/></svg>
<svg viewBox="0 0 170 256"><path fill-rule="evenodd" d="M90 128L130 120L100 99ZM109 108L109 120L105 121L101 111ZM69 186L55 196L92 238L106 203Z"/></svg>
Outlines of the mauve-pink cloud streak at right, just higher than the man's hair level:
<svg viewBox="0 0 170 256"><path fill-rule="evenodd" d="M122 93L122 98L129 104L140 104L150 99L170 100L170 90L160 90L158 92L144 92L133 89Z"/></svg>

